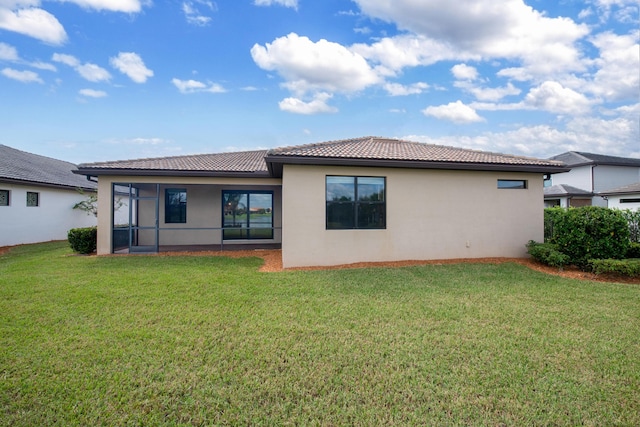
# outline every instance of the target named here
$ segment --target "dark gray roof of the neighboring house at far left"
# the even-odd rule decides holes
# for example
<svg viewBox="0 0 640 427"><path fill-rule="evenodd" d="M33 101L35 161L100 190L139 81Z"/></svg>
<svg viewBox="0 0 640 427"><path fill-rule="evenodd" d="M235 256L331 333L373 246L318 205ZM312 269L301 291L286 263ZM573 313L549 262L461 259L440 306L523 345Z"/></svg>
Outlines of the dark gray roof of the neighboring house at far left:
<svg viewBox="0 0 640 427"><path fill-rule="evenodd" d="M97 183L78 176L73 163L27 153L0 144L0 181L95 190Z"/></svg>

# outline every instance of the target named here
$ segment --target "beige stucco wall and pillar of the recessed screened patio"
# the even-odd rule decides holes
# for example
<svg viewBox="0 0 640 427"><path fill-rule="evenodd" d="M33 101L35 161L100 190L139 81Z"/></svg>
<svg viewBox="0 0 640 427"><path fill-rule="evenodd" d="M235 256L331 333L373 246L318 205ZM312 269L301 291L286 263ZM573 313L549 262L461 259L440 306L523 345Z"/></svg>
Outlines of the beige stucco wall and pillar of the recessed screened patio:
<svg viewBox="0 0 640 427"><path fill-rule="evenodd" d="M171 178L171 177L136 177L136 176L100 176L98 179L98 254L111 253L111 188L113 183L149 183L160 184L159 195L159 244L160 245L210 245L220 242L220 230L205 228L219 228L222 226L222 191L223 190L266 190L273 191L273 221L274 239L267 242L279 243L282 226L279 179L241 179L241 178ZM187 190L187 223L166 224L165 189L180 188ZM141 194L146 195L146 194ZM155 195L155 192L154 192ZM155 221L154 201L144 201L147 209L138 212L140 225L153 226ZM197 230L186 230L196 228ZM199 228L199 229L198 229ZM151 244L154 240L153 230L139 232L139 244ZM234 241L242 243L243 241ZM255 243L256 241L252 241Z"/></svg>

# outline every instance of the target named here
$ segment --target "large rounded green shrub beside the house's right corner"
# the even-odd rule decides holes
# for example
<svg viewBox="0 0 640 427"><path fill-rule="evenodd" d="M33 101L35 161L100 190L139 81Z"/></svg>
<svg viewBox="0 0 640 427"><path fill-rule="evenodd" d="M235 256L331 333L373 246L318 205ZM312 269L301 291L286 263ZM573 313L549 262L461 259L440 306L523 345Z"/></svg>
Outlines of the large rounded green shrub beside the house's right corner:
<svg viewBox="0 0 640 427"><path fill-rule="evenodd" d="M629 248L629 226L618 210L586 206L557 218L553 242L571 264L589 269L592 259L621 259Z"/></svg>

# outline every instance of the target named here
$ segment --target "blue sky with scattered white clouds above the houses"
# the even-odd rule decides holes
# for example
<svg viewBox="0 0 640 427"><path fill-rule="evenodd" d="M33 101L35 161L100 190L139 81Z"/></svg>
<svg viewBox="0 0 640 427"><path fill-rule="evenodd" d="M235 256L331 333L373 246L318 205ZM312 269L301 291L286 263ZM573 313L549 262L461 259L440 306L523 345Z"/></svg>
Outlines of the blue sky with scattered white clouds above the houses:
<svg viewBox="0 0 640 427"><path fill-rule="evenodd" d="M0 0L0 144L640 157L636 0Z"/></svg>

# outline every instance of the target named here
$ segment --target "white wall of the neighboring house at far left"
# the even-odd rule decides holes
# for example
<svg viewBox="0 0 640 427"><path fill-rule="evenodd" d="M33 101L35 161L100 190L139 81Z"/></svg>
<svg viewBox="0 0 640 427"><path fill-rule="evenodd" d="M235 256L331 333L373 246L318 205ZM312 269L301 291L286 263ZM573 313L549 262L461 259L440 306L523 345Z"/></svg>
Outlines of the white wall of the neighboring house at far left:
<svg viewBox="0 0 640 427"><path fill-rule="evenodd" d="M86 199L76 190L0 183L10 205L0 206L0 246L66 240L72 228L96 225L96 218L73 206ZM39 193L39 206L27 206L27 192Z"/></svg>

